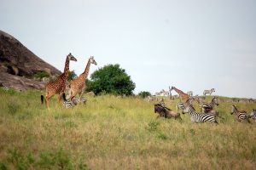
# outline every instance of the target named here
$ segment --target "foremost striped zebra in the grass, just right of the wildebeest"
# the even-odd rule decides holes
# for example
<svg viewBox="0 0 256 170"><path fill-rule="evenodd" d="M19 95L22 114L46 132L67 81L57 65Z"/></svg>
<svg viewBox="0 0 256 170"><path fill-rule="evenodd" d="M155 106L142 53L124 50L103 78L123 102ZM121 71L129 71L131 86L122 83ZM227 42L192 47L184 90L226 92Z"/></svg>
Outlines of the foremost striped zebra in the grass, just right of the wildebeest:
<svg viewBox="0 0 256 170"><path fill-rule="evenodd" d="M187 101L185 103L180 102L178 103L178 106L183 110L183 114L189 113L189 115L191 116L191 122L212 122L218 124L218 122L215 119L215 116L212 116L207 113L197 113L193 105L191 105L191 101Z"/></svg>

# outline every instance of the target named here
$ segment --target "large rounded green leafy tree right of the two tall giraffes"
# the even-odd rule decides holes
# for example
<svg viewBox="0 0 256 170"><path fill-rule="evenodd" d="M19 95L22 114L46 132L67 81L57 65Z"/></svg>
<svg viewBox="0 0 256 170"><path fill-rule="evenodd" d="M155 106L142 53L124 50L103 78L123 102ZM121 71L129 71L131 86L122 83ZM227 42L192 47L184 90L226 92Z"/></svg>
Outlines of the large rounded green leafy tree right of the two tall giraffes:
<svg viewBox="0 0 256 170"><path fill-rule="evenodd" d="M87 91L93 91L95 94L131 95L136 87L131 77L125 73L125 69L119 65L105 65L94 71L90 78L91 81L86 82Z"/></svg>

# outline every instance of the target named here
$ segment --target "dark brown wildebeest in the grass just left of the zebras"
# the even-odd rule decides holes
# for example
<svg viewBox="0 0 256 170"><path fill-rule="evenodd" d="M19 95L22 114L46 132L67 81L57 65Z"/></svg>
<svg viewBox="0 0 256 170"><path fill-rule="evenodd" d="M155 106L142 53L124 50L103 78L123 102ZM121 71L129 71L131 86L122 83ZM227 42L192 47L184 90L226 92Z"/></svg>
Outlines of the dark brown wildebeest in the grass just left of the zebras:
<svg viewBox="0 0 256 170"><path fill-rule="evenodd" d="M182 120L179 113L177 113L176 111L172 111L171 109L160 104L154 104L154 113L156 112L159 114L159 116L163 116L166 118L174 117L174 119L178 118L179 120Z"/></svg>

